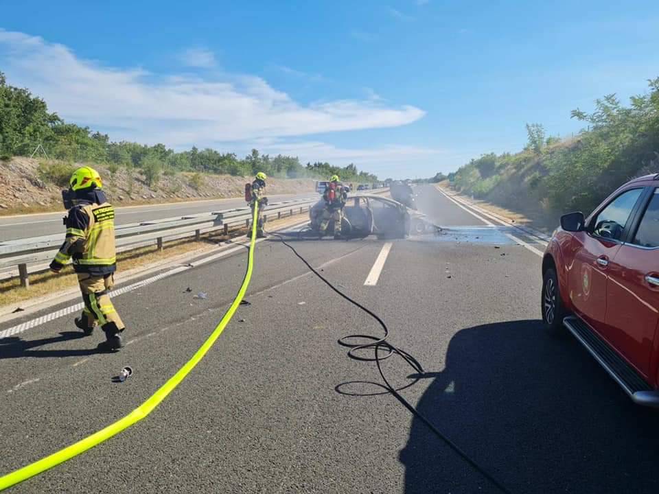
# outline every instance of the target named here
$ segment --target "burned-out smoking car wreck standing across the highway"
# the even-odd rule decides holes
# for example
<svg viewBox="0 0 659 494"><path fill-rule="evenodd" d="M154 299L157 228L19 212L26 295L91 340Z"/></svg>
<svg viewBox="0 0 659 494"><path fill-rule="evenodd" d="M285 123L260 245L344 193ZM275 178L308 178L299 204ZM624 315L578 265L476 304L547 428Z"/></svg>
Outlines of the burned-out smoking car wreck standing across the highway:
<svg viewBox="0 0 659 494"><path fill-rule="evenodd" d="M325 201L319 200L309 210L310 229L319 232ZM410 211L404 204L382 196L348 198L343 208L341 233L347 237L404 238L410 233L425 233L435 228L423 214ZM327 235L334 233L329 222Z"/></svg>

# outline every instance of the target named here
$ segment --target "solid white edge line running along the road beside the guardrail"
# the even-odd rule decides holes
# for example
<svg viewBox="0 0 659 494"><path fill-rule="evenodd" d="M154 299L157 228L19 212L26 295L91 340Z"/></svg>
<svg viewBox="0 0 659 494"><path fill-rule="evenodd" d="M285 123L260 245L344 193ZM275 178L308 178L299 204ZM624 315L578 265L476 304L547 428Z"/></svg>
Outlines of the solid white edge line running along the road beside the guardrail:
<svg viewBox="0 0 659 494"><path fill-rule="evenodd" d="M306 223L306 220L304 221ZM295 224L293 226L290 226L286 228L285 230L282 230L284 232L291 231L294 228L299 227L299 223ZM257 244L260 244L263 242L263 239L258 239ZM215 259L218 259L220 257L225 257L230 254L233 254L233 252L238 252L240 250L245 250L246 244L239 244L238 246L235 246L233 248L230 248L228 250L223 250L222 252L218 252L217 254L213 254L209 257L205 257L203 259L198 259L198 261L195 261L194 263L190 263L189 265L186 266L178 266L177 268L174 268L169 271L161 272L160 274L156 274L155 276L152 276L150 278L144 279L142 281L138 281L137 283L132 283L132 285L127 285L125 287L117 288L116 290L112 290L110 293L110 296L117 296L117 295L122 295L128 292L132 292L134 290L138 290L139 288L150 285L151 283L155 283L156 281L160 281L163 278L170 277L174 274L178 274L183 271L190 270L192 268L196 268L196 266L200 266L201 264L207 263L209 261L214 261ZM37 326L43 325L45 322L58 319L63 316L67 316L69 314L73 314L73 312L76 311L81 311L82 307L84 304L77 303L76 305L70 305L69 307L65 307L64 309L60 309L58 311L51 312L50 314L45 314L41 317L27 320L25 322L21 322L21 324L12 326L8 329L5 329L3 331L0 331L0 339L1 338L8 338L9 336L13 336L18 333L23 333L23 331L27 331L27 329L32 329Z"/></svg>

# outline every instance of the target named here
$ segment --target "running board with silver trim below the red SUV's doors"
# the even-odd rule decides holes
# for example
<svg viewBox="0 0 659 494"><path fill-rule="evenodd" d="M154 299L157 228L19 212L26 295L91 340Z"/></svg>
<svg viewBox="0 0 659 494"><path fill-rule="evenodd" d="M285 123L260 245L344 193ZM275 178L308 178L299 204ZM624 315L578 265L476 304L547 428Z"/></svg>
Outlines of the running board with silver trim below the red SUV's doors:
<svg viewBox="0 0 659 494"><path fill-rule="evenodd" d="M652 389L645 379L585 322L578 317L568 316L563 320L563 324L583 346L586 346L586 350L625 390L634 403L659 408L659 390Z"/></svg>

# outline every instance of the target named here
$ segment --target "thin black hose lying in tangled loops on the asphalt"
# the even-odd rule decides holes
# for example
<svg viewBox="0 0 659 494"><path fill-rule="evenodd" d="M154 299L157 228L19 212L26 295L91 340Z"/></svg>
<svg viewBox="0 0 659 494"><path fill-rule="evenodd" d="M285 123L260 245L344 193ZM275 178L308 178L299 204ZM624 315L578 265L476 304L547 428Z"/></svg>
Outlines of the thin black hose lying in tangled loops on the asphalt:
<svg viewBox="0 0 659 494"><path fill-rule="evenodd" d="M382 371L382 365L381 365L382 360L391 357L391 355L399 355L400 357L402 357L402 359L405 362L407 362L407 364L409 366L411 366L417 372L417 374L419 374L419 375L423 375L425 373L425 371L424 371L423 367L421 366L421 364L419 363L419 361L415 359L415 357L413 357L412 355L410 355L406 351L401 350L401 349L397 348L396 346L393 346L393 344L386 341L386 338L389 337L389 328L386 327L386 324L380 318L380 316L378 316L378 314L375 314L373 311L371 311L371 309L368 309L367 307L364 307L359 302L355 301L353 298L350 298L349 296L347 296L346 294L344 294L343 292L338 290L338 288L335 287L332 284L331 281L328 281L313 266L311 266L311 264L304 257L302 257L300 255L300 253L297 252L297 250L295 250L295 248L292 245L290 245L288 242L286 242L284 237L282 237L281 235L279 235L277 233L270 233L270 235L273 235L274 237L279 238L279 240L281 241L282 244L284 244L286 247L290 248L290 250L292 250L293 254L296 257L298 257L298 259L300 259L305 264L305 266L307 266L307 268L309 268L309 270L316 275L316 277L318 277L321 281L323 281L323 283L325 283L325 285L327 285L329 288L331 288L336 294L338 294L339 296L344 298L346 301L348 301L352 305L355 305L356 307L358 307L362 311L365 311L367 314L369 314L369 316L371 316L373 319L378 321L378 324L382 327L382 330L384 331L384 336L382 336L382 338L377 338L376 336L371 336L371 335L355 334L355 335L344 336L343 338L339 338L339 340L338 340L338 344L349 347L349 349L350 349L348 351L349 357L351 357L355 360L362 360L362 361L365 361L365 362L375 362L375 365L378 366L378 372L380 373L380 377L382 377L382 381L384 382L384 384L380 384L380 383L372 383L372 384L374 384L376 386L380 386L381 388L384 388L384 390L386 390L386 392L390 392L398 401L400 401L400 403L402 403L402 405L404 405L405 408L407 408L414 416L416 416L424 424L426 424L428 426L428 428L432 432L434 432L435 435L437 435L437 437L439 437L441 440L443 440L443 442L446 443L446 445L448 445L448 447L450 447L453 451L455 451L456 454L461 456L461 458L463 458L463 460L465 460L465 462L470 464L476 471L481 473L481 475L483 475L483 477L485 477L487 480L489 480L489 482L492 482L492 485L494 485L502 493L511 494L511 492L501 482L496 480L496 478L494 478L494 476L491 473L489 473L487 470L485 470L483 467L481 467L481 465L476 463L475 460L472 460L472 458L470 458L470 456L468 456L467 453L465 453L465 451L460 449L460 447L458 445L456 445L452 440L450 440L450 438L448 438L439 429L437 429L437 427L435 427L435 425L433 425L432 422L430 422L430 420L426 418L426 416L421 414L421 412L419 412L416 408L414 408L413 405L409 401L407 401L406 399L404 399L404 397L402 397L402 395L400 395L399 391L404 389L404 388L407 388L408 386L411 386L411 384L408 384L407 386L403 386L402 388L398 388L398 389L391 386L389 381L384 376L384 372ZM351 342L348 341L348 340L356 340L356 339L369 340L369 342L368 343L351 343ZM357 355L356 354L356 351L366 350L366 349L373 349L373 357L364 357L362 355ZM380 351L384 351L384 355L380 355ZM419 379L419 378L417 377L417 379ZM412 384L414 384L414 382Z"/></svg>

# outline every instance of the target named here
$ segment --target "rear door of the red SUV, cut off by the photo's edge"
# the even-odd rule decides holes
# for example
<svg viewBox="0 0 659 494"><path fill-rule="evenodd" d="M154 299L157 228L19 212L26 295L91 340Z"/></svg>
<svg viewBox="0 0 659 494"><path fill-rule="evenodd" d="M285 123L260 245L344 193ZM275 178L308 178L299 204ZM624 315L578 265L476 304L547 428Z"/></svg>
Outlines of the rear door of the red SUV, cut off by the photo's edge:
<svg viewBox="0 0 659 494"><path fill-rule="evenodd" d="M659 189L608 271L605 337L648 377L659 321Z"/></svg>

